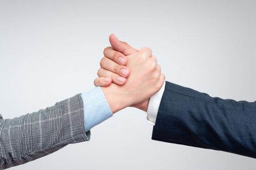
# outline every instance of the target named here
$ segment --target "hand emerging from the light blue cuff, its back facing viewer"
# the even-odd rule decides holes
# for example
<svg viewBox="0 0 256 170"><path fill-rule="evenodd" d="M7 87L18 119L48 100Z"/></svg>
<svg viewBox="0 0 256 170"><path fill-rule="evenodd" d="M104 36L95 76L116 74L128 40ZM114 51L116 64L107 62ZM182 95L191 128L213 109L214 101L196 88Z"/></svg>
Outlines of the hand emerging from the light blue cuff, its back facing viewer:
<svg viewBox="0 0 256 170"><path fill-rule="evenodd" d="M149 98L159 91L165 80L149 48L142 48L128 55L127 59L127 68L130 69L127 82L124 85L111 84L108 87L102 87L113 113L128 106L138 106L137 104L142 107L142 103L145 105L149 102ZM105 76L104 72L105 70L99 71L99 76Z"/></svg>

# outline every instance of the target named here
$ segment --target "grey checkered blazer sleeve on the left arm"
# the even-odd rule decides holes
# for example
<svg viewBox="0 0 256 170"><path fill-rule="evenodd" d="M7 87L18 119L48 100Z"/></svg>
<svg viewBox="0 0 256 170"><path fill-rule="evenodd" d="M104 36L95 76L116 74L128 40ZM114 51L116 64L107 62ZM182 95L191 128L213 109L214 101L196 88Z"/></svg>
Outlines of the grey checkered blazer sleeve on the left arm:
<svg viewBox="0 0 256 170"><path fill-rule="evenodd" d="M89 138L81 94L20 118L2 119L0 115L0 169L33 161Z"/></svg>

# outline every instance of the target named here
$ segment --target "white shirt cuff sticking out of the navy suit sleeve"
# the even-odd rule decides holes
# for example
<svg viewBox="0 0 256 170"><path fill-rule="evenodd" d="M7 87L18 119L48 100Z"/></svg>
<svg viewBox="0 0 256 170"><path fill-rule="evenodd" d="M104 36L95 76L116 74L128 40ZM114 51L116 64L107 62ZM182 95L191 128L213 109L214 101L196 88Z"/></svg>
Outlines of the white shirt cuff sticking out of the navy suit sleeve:
<svg viewBox="0 0 256 170"><path fill-rule="evenodd" d="M149 100L147 119L149 124L151 125L155 125L155 120L157 117L158 109L159 109L164 91L165 91L165 82L161 87L161 89L156 94L154 94Z"/></svg>

